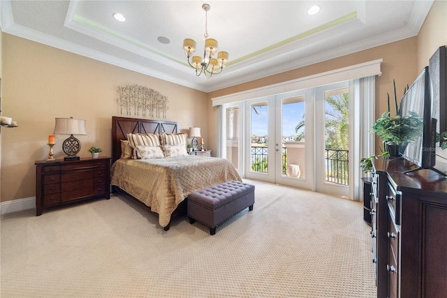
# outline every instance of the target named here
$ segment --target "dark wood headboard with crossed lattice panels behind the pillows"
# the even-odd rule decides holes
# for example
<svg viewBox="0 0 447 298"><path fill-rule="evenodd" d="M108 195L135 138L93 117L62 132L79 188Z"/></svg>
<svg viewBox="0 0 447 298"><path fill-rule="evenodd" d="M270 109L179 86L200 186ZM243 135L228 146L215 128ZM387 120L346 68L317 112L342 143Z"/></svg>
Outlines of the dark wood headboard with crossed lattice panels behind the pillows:
<svg viewBox="0 0 447 298"><path fill-rule="evenodd" d="M127 133L177 133L179 123L164 120L112 117L112 163L121 157Z"/></svg>

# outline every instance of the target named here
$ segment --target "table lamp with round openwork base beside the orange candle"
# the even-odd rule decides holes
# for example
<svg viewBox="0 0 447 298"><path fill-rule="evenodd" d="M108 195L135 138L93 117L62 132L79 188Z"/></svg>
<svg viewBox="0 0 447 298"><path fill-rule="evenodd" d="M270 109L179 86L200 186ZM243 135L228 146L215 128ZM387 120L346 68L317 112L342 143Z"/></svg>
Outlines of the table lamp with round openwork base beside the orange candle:
<svg viewBox="0 0 447 298"><path fill-rule="evenodd" d="M81 142L73 135L87 135L85 131L85 120L70 118L56 118L54 125L54 135L70 135L64 143L62 150L67 155L64 161L78 161L80 158L76 154L81 150Z"/></svg>

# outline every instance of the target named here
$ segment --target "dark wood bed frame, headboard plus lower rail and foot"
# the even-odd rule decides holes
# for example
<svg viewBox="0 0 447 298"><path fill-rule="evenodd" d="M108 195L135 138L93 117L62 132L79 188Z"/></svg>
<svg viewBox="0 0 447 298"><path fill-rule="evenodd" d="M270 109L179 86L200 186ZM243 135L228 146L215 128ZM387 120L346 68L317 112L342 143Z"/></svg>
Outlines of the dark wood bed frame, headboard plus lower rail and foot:
<svg viewBox="0 0 447 298"><path fill-rule="evenodd" d="M112 117L112 164L115 163L121 157L121 140L127 140L127 133L177 133L178 122L153 120L153 119L138 119L128 117ZM117 191L117 186L112 186L113 191ZM120 190L125 193L125 191ZM129 195L126 193L126 195ZM132 195L129 195L133 198ZM137 198L133 198L139 202L142 206L146 207L152 214L158 216L155 212L151 211L144 203ZM171 216L172 218L182 216L186 214L186 200L179 203L175 211ZM163 228L167 231L170 228L170 223Z"/></svg>

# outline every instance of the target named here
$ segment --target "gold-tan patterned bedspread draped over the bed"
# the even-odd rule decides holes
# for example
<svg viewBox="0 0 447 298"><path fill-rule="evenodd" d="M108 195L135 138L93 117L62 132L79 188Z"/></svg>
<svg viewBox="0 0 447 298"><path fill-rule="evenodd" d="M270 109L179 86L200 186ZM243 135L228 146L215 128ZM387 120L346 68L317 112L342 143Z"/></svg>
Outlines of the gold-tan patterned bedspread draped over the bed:
<svg viewBox="0 0 447 298"><path fill-rule="evenodd" d="M111 174L110 183L158 213L162 227L189 193L225 181L242 181L228 160L209 156L122 158L113 163Z"/></svg>

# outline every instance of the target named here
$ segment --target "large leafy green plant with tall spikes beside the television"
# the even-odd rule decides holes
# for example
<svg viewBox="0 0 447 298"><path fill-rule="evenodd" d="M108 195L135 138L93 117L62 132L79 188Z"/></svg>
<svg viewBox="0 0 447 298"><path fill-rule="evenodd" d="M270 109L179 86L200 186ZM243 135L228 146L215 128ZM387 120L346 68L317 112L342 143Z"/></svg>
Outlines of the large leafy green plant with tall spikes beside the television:
<svg viewBox="0 0 447 298"><path fill-rule="evenodd" d="M396 115L390 114L390 95L388 95L388 112L385 112L376 120L372 126L372 133L376 133L386 146L386 151L390 156L400 156L405 151L406 145L409 142L416 140L423 131L423 117L420 117L415 112L409 112L408 116L402 117L400 115L400 107L397 105L396 85L394 85L394 98ZM408 87L406 87L407 89ZM406 91L404 90L404 93Z"/></svg>

